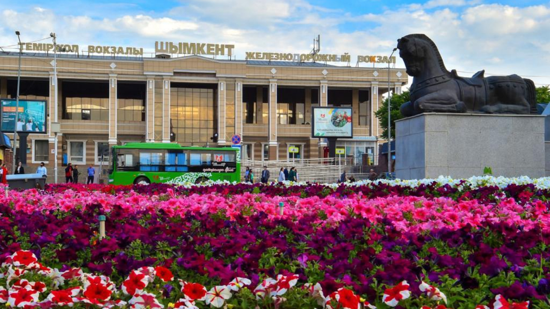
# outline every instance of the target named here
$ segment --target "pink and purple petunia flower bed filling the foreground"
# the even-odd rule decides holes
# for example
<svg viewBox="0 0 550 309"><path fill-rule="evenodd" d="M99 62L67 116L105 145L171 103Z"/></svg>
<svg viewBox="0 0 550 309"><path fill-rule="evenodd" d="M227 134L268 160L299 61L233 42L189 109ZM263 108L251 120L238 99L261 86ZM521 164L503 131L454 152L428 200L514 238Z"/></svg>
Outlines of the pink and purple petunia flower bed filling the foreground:
<svg viewBox="0 0 550 309"><path fill-rule="evenodd" d="M321 308L325 304L317 304L315 296L320 289L323 296L336 293L333 300L351 301L348 305L359 295L371 306L388 308L394 303L384 293L397 296L399 291L387 290L404 281L411 297L398 302L401 308L499 308L505 299L548 308L548 189L542 180L507 185L487 180L486 186L432 181L414 186L96 185L94 191L58 185L13 191L0 197L0 262L9 264L14 252L30 250L59 272L81 268L108 276L114 295L120 295L113 299L125 302L135 296L121 288L129 276L139 275L142 267L162 266L175 278L209 290L249 279L246 288L224 299L222 305L235 308ZM100 214L107 217L103 240L96 234ZM50 281L25 275L31 276L22 277L29 282L47 283L49 290L39 293L38 301L46 299ZM275 298L256 299L259 285L278 286L294 275L296 286L284 295L270 290L265 295ZM4 277L0 286L9 294L13 282L5 283ZM164 286L151 278L146 293L159 304L185 298L179 281ZM59 289L80 286L80 294L72 297L84 297L82 280ZM433 297L435 288L446 295L446 303ZM147 297L153 296L142 295L139 302ZM131 305L136 306L126 306ZM212 304L197 301L195 306Z"/></svg>

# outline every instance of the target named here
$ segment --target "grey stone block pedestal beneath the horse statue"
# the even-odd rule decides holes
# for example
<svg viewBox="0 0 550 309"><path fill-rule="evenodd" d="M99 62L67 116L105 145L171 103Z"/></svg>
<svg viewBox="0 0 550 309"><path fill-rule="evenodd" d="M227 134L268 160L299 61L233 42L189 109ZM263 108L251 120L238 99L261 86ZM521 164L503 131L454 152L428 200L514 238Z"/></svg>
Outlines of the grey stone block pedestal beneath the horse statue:
<svg viewBox="0 0 550 309"><path fill-rule="evenodd" d="M545 175L544 117L425 113L395 122L400 179Z"/></svg>

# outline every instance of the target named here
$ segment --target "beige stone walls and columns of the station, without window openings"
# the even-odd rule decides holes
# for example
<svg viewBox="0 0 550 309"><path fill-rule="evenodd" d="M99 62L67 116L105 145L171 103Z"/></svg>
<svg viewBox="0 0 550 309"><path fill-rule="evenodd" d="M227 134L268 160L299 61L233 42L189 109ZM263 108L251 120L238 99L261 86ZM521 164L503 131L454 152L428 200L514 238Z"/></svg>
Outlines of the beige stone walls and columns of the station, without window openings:
<svg viewBox="0 0 550 309"><path fill-rule="evenodd" d="M21 58L21 76L23 79L40 79L48 81L50 95L41 99L48 101L48 128L54 121L57 108L58 121L61 123L62 134L58 136L58 162L62 170L62 154L66 153L63 145L67 138L86 140L86 163L94 158L96 139L109 141L111 144L122 144L127 141L169 142L170 139L170 102L171 83L194 82L216 85L215 112L218 123L219 145L230 145L233 134L241 135L246 143L254 144L254 158L262 158L262 143L269 145L271 159L287 158L287 144L290 142L304 143L304 157L316 158L326 146L318 139L310 139L310 125L279 125L277 118L277 87L303 87L305 93L305 122L311 122L311 91L318 89L320 106L326 106L328 92L331 87L352 89L354 135L379 136L382 130L374 117L382 93L387 92L388 70L384 68L351 68L351 67L309 67L309 66L272 66L250 65L245 61L224 61L200 56L187 56L172 59L144 58L142 60L114 60L89 58L57 59L58 72L58 102L54 102L56 81L50 57ZM17 56L0 57L0 97L8 97L7 80L17 78ZM400 72L401 76L398 77ZM375 73L376 72L376 73ZM408 76L404 69L389 71L392 87L404 85ZM109 120L67 120L62 111L61 80L109 81ZM145 121L120 122L117 119L117 84L118 81L146 82ZM243 88L255 86L256 123L246 124L244 121ZM359 89L369 89L370 115L369 125L359 126ZM267 92L267 96L263 92ZM267 97L267 100L263 100ZM24 97L21 96L21 99ZM31 98L31 97L29 97ZM36 97L35 97L36 98ZM266 101L266 102L264 102ZM67 137L68 136L68 137ZM50 150L54 149L54 134L29 137L46 139L50 142ZM32 151L31 151L32 152ZM29 164L31 164L31 153ZM53 154L50 152L48 168L52 168ZM32 165L32 164L31 164ZM34 165L32 165L34 166ZM61 172L59 172L61 173Z"/></svg>

